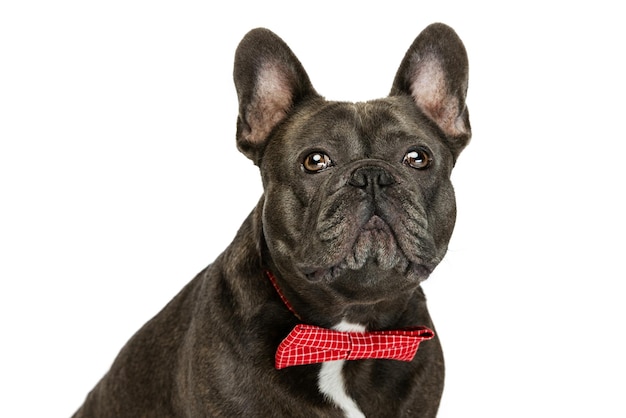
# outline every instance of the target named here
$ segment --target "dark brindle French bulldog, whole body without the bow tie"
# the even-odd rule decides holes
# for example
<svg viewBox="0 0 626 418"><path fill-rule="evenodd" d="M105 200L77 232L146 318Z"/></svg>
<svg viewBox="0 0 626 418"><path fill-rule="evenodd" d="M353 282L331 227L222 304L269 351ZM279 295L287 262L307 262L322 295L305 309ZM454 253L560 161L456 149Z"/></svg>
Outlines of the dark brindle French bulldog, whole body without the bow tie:
<svg viewBox="0 0 626 418"><path fill-rule="evenodd" d="M469 142L468 62L427 27L389 97L332 102L266 29L241 41L238 148L264 194L230 246L121 350L75 417L434 417L439 340L412 361L277 369L299 323L432 328L420 286L455 223L450 174ZM296 316L297 315L297 316Z"/></svg>

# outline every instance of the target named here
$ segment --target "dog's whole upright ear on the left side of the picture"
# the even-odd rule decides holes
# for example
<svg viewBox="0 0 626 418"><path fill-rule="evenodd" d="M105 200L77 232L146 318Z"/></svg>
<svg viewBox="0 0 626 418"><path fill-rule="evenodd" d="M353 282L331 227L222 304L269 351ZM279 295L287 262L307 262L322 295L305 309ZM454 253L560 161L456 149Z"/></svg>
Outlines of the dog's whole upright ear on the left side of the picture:
<svg viewBox="0 0 626 418"><path fill-rule="evenodd" d="M239 98L237 147L258 164L272 130L300 101L317 93L287 44L263 28L240 42L233 77Z"/></svg>

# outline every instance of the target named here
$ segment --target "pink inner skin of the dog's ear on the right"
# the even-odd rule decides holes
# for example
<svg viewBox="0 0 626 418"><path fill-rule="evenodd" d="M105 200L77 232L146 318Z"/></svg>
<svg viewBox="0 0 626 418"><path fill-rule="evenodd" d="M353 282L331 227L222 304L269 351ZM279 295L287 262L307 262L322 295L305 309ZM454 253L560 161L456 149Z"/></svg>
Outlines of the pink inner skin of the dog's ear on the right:
<svg viewBox="0 0 626 418"><path fill-rule="evenodd" d="M413 74L411 94L417 106L450 136L467 134L465 122L459 114L459 100L448 92L441 64L425 58Z"/></svg>

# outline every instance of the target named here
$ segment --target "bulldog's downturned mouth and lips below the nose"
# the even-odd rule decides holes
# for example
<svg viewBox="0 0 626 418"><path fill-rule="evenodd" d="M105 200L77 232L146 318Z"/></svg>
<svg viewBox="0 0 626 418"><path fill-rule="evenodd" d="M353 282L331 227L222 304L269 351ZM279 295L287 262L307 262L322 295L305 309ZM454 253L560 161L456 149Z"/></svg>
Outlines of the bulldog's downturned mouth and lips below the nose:
<svg viewBox="0 0 626 418"><path fill-rule="evenodd" d="M402 251L396 236L387 222L372 216L360 228L354 244L346 256L330 267L304 271L311 281L335 280L348 270L363 270L369 267L385 272L396 272L404 277L425 279L432 268L422 262L411 261Z"/></svg>

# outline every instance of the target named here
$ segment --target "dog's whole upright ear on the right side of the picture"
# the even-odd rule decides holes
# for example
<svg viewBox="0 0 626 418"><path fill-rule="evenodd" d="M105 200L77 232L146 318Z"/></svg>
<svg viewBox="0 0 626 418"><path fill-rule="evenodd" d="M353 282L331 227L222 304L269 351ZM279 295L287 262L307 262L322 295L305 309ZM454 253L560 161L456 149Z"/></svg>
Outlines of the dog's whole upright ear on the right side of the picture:
<svg viewBox="0 0 626 418"><path fill-rule="evenodd" d="M455 160L471 137L467 83L467 53L461 39L452 28L434 23L407 51L390 93L413 97L446 135Z"/></svg>

